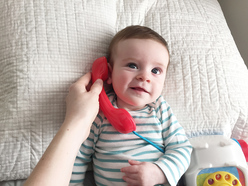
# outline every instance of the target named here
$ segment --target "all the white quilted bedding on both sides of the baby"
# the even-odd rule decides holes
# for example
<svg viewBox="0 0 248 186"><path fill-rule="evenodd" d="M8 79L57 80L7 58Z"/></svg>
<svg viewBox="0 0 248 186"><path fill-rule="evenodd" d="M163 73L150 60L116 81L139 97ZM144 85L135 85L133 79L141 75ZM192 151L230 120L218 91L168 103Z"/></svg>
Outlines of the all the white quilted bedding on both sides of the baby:
<svg viewBox="0 0 248 186"><path fill-rule="evenodd" d="M27 178L63 122L70 84L128 25L168 41L164 95L189 137L248 142L248 71L217 0L1 0L0 8L0 181Z"/></svg>

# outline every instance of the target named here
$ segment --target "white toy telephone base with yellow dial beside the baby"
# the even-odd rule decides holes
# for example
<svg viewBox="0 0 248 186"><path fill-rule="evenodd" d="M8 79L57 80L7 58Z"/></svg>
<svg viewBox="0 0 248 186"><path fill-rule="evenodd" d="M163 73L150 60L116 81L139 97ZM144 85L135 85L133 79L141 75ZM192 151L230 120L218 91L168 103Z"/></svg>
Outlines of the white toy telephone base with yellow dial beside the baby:
<svg viewBox="0 0 248 186"><path fill-rule="evenodd" d="M225 136L190 139L191 163L186 186L248 186L248 164L241 146Z"/></svg>

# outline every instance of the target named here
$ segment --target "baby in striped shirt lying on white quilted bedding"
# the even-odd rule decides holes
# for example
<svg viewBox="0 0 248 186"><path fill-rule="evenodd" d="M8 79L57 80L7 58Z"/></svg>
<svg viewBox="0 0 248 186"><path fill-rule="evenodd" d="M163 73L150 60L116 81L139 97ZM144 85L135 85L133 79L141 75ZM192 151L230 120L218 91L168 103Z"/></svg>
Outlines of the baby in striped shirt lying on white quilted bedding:
<svg viewBox="0 0 248 186"><path fill-rule="evenodd" d="M161 96L169 64L167 42L150 28L129 26L112 39L108 61L111 103L126 109L136 132L165 152L134 133L119 133L100 111L79 149L70 185L82 185L93 160L96 185L175 186L189 166L192 146Z"/></svg>

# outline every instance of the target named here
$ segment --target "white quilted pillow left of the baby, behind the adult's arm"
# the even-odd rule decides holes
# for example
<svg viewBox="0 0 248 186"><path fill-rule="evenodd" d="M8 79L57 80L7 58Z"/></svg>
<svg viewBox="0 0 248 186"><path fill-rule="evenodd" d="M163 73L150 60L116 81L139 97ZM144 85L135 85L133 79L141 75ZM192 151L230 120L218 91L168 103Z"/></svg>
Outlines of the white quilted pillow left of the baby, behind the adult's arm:
<svg viewBox="0 0 248 186"><path fill-rule="evenodd" d="M63 122L69 86L106 53L115 4L0 2L0 181L26 178Z"/></svg>

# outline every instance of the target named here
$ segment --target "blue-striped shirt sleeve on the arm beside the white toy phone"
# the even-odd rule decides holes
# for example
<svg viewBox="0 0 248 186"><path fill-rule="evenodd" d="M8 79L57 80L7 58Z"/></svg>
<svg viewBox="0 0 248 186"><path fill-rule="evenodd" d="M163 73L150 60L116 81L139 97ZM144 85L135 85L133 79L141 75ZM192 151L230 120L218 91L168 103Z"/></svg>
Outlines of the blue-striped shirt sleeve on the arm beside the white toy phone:
<svg viewBox="0 0 248 186"><path fill-rule="evenodd" d="M176 186L189 167L192 146L183 127L162 96L156 102L156 112L163 128L165 153L155 164L164 172L169 184Z"/></svg>

